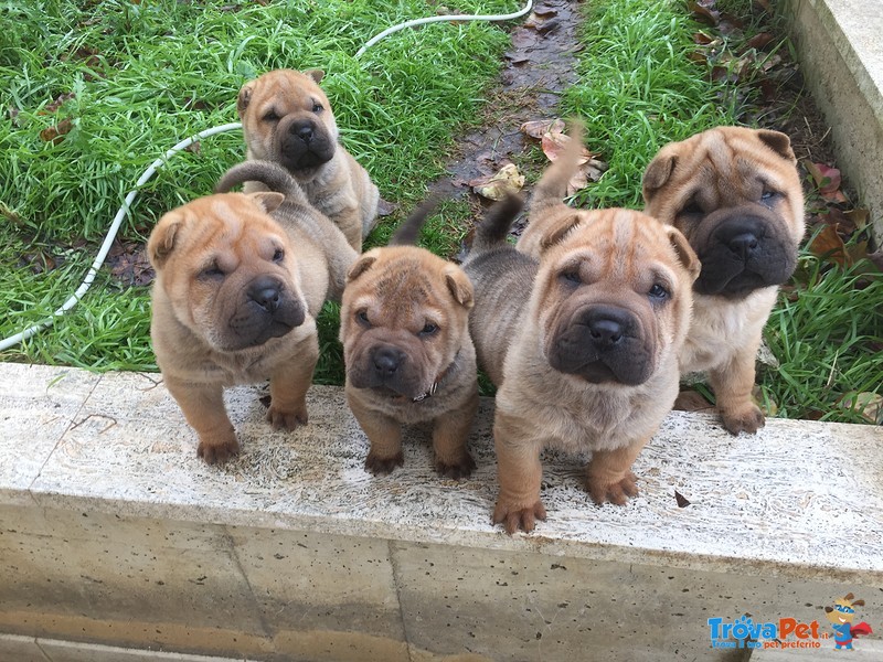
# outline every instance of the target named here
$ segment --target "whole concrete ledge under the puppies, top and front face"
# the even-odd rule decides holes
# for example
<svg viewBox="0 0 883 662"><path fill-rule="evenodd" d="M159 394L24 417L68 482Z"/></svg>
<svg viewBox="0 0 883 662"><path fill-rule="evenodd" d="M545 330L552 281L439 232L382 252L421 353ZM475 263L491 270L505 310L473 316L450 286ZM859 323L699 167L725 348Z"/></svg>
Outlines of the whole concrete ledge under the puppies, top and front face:
<svg viewBox="0 0 883 662"><path fill-rule="evenodd" d="M340 388L313 387L291 434L257 396L230 392L243 456L217 469L159 375L0 364L0 632L279 661L723 661L710 617L823 623L848 591L883 608L880 427L732 437L672 413L631 504L591 505L578 462L549 453L549 521L509 537L489 522L491 402L457 483L421 429L402 470L368 474Z"/></svg>

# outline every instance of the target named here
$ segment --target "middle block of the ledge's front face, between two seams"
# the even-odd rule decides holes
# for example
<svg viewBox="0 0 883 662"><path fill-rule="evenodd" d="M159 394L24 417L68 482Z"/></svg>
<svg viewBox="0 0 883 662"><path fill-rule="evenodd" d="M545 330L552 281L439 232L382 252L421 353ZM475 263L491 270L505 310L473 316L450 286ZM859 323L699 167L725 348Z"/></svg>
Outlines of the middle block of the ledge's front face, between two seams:
<svg viewBox="0 0 883 662"><path fill-rule="evenodd" d="M246 527L230 535L285 659L408 662L386 541Z"/></svg>

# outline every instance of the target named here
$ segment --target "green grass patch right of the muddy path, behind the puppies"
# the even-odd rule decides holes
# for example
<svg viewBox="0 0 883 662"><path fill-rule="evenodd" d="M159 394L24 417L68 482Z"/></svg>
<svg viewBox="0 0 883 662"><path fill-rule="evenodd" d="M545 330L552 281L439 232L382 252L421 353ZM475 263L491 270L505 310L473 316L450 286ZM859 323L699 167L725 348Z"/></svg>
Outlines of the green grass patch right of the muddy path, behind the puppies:
<svg viewBox="0 0 883 662"><path fill-rule="evenodd" d="M605 0L586 9L578 82L564 95L565 115L583 118L588 148L610 169L584 190L581 206L640 209L641 177L667 142L734 124L724 88L688 58L696 24L681 3Z"/></svg>

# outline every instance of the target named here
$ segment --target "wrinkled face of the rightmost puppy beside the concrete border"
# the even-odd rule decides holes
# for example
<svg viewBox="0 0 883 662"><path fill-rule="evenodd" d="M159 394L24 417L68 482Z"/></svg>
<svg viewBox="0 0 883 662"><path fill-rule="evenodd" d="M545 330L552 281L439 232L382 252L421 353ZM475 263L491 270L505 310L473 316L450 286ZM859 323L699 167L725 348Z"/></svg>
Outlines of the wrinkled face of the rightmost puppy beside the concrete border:
<svg viewBox="0 0 883 662"><path fill-rule="evenodd" d="M785 282L804 236L804 195L787 136L719 127L664 147L643 177L646 211L699 255L701 295L741 299Z"/></svg>

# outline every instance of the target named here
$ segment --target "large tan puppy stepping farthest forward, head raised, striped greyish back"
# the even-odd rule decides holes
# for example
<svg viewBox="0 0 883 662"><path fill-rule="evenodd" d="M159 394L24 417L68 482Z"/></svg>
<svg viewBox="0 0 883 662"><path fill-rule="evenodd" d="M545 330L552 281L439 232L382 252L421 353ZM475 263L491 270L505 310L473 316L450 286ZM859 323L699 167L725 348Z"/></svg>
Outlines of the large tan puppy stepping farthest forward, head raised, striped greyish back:
<svg viewBox="0 0 883 662"><path fill-rule="evenodd" d="M539 190L550 191L570 174L553 168L543 179ZM678 395L699 274L681 233L649 216L536 202L534 212L546 210L539 263L506 242L518 210L510 202L479 225L464 267L476 291L479 365L499 387L493 521L509 533L545 519L547 446L592 451L586 489L595 502L637 494L630 467Z"/></svg>

